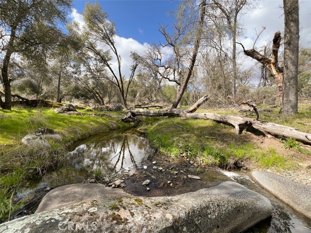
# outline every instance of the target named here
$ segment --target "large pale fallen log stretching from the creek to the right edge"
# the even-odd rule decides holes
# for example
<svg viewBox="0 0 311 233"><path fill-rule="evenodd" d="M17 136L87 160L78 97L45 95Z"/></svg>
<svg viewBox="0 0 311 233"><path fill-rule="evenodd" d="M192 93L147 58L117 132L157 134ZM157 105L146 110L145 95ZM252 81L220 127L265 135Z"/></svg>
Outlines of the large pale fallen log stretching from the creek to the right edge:
<svg viewBox="0 0 311 233"><path fill-rule="evenodd" d="M268 121L262 121L242 116L220 115L216 113L188 113L187 110L168 109L168 110L133 110L130 111L122 120L134 116L182 116L194 119L214 120L220 123L229 123L235 127L235 133L241 133L242 126L255 128L263 133L270 133L287 138L295 138L306 144L311 144L311 134L298 131L292 127L278 125Z"/></svg>

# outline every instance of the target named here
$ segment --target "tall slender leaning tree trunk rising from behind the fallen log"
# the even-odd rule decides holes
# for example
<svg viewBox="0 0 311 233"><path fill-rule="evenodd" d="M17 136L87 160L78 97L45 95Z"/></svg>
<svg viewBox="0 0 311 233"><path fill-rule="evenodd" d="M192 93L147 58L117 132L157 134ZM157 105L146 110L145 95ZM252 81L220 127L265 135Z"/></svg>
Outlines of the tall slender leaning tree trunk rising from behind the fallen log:
<svg viewBox="0 0 311 233"><path fill-rule="evenodd" d="M186 77L186 80L184 83L182 83L182 86L180 87L180 91L177 93L177 97L176 100L173 102L172 105L172 109L173 108L177 108L178 104L180 103L181 98L183 97L189 80L191 78L192 75L192 71L194 68L194 64L196 61L196 56L198 54L198 50L199 50L199 46L200 46L200 41L201 41L201 35L202 35L202 30L203 30L203 24L204 24L204 16L205 16L205 8L206 8L206 0L201 0L201 4L200 4L200 8L201 8L201 12L200 12L200 22L198 25L198 31L196 34L196 39L195 39L195 43L194 43L194 48L193 48L193 53L192 53L192 57L191 57L191 61L190 61L190 66L188 67L188 74Z"/></svg>

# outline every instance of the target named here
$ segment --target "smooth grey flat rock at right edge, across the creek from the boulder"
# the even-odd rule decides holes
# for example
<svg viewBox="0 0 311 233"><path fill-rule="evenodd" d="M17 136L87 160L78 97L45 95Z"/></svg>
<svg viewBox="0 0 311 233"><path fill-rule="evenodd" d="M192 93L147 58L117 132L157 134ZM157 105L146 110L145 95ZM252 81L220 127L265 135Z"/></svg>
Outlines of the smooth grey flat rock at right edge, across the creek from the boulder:
<svg viewBox="0 0 311 233"><path fill-rule="evenodd" d="M311 187L266 171L253 171L253 178L265 189L301 214L311 218Z"/></svg>

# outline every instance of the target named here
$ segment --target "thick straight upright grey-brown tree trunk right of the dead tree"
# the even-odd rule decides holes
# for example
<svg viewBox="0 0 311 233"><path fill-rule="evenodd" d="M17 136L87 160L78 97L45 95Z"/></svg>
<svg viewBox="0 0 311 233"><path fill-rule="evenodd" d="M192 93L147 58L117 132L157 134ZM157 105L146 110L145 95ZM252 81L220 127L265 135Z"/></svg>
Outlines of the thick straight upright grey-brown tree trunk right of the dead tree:
<svg viewBox="0 0 311 233"><path fill-rule="evenodd" d="M283 0L284 4L284 71L282 114L298 111L299 6L298 0Z"/></svg>

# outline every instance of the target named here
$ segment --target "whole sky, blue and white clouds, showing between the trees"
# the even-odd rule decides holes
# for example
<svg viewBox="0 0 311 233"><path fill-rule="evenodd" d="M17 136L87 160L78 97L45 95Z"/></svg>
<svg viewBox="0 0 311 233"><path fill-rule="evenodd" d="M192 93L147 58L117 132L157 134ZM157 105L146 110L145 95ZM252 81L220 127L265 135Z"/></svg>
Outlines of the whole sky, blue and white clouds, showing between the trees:
<svg viewBox="0 0 311 233"><path fill-rule="evenodd" d="M95 2L95 1L91 1ZM130 51L143 54L148 45L163 42L163 36L158 32L159 25L172 22L172 12L180 1L178 0L98 0L102 10L108 13L108 19L116 23L118 36L116 45L122 58L122 71L129 73L131 60ZM82 23L82 12L85 0L74 0L71 19ZM251 12L242 15L241 25L244 30L242 42L245 49L253 47L256 31L266 29L256 42L260 47L273 39L277 31L284 32L283 0L260 0L258 6ZM311 47L311 0L299 0L300 45ZM241 47L237 47L241 50ZM251 67L251 58L240 56L245 67ZM116 64L114 64L116 67Z"/></svg>

